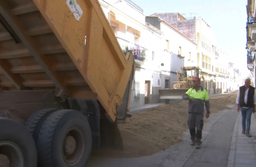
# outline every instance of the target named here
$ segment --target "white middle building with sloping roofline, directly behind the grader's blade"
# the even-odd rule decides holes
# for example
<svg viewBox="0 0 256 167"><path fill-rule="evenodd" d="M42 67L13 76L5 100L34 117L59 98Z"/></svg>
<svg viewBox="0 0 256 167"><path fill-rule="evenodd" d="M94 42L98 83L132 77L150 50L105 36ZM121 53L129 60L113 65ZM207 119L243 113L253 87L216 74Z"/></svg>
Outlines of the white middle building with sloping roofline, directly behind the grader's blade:
<svg viewBox="0 0 256 167"><path fill-rule="evenodd" d="M176 71L180 73L183 66L196 66L197 44L158 16L146 16L146 23L163 32L161 45L165 58L162 56L160 59L164 60L163 67L167 68L170 75L160 74L161 80L164 80L161 88L172 88L172 82L178 79ZM154 75L154 77L157 76L157 74Z"/></svg>

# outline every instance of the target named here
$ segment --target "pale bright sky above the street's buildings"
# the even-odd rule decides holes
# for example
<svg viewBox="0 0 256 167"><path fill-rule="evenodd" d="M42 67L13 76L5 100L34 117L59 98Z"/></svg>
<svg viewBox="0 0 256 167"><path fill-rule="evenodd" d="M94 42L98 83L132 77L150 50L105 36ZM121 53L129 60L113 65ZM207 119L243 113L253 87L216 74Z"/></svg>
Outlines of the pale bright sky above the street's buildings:
<svg viewBox="0 0 256 167"><path fill-rule="evenodd" d="M186 18L202 17L211 23L217 37L217 46L229 55L243 75L247 68L246 3L247 0L131 0L144 10L146 16L153 13L180 13Z"/></svg>

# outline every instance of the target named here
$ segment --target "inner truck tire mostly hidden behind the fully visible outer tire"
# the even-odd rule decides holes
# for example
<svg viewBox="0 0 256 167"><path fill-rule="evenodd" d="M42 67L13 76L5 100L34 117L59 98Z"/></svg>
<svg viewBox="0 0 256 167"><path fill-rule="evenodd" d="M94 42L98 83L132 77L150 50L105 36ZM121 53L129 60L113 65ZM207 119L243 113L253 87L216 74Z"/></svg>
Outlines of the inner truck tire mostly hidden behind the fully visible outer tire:
<svg viewBox="0 0 256 167"><path fill-rule="evenodd" d="M33 136L33 139L37 145L37 139L39 136L40 129L45 122L46 118L52 114L52 112L57 111L58 109L41 109L28 117L24 126Z"/></svg>

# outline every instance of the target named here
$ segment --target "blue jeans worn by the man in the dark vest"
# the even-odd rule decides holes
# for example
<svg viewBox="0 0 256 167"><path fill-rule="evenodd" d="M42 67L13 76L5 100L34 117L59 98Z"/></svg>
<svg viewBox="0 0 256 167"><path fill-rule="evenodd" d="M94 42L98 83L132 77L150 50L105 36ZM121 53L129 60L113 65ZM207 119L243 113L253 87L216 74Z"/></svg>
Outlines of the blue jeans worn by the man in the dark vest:
<svg viewBox="0 0 256 167"><path fill-rule="evenodd" d="M250 133L252 109L253 108L241 108L242 129L245 130L246 127L246 133Z"/></svg>

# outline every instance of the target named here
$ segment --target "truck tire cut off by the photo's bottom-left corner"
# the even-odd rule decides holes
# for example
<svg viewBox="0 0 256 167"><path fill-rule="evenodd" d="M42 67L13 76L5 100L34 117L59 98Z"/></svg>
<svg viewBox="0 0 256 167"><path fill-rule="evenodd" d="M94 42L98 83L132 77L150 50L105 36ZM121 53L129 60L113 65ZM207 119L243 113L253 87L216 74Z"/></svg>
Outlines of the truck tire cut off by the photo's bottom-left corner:
<svg viewBox="0 0 256 167"><path fill-rule="evenodd" d="M22 124L8 118L0 118L0 154L10 166L37 166L36 145ZM6 164L5 164L6 165Z"/></svg>

